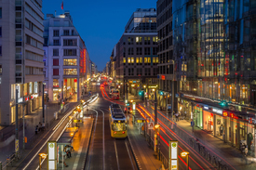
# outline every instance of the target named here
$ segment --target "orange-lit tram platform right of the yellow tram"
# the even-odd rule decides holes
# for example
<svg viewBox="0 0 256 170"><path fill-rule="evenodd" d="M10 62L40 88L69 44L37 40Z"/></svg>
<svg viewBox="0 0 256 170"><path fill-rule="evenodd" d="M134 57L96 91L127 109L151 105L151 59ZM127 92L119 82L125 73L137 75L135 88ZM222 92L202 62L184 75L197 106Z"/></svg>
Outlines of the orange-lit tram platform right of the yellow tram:
<svg viewBox="0 0 256 170"><path fill-rule="evenodd" d="M128 114L128 116L128 138L133 150L135 151L135 156L140 169L159 169L162 162L155 158L154 151L149 148L146 138L139 134L138 127L132 124L131 115Z"/></svg>

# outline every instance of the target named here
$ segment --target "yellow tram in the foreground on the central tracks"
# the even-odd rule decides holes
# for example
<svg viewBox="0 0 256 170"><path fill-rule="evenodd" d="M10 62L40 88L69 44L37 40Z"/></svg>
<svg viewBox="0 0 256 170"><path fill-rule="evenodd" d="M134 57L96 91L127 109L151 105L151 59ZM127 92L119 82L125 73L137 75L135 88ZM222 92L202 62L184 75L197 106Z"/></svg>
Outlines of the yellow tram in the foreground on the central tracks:
<svg viewBox="0 0 256 170"><path fill-rule="evenodd" d="M109 124L111 137L125 138L128 137L127 118L118 104L112 104L109 107Z"/></svg>

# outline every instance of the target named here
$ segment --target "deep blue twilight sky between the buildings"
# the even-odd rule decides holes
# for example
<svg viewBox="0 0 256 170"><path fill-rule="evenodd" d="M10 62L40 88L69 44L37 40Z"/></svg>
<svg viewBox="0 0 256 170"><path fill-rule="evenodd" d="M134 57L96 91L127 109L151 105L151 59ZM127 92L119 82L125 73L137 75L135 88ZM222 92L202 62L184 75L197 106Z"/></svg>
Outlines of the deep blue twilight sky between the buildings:
<svg viewBox="0 0 256 170"><path fill-rule="evenodd" d="M157 0L63 0L73 23L86 43L92 61L102 71L112 49L124 33L125 26L136 8L156 8ZM43 12L57 15L62 0L43 0Z"/></svg>

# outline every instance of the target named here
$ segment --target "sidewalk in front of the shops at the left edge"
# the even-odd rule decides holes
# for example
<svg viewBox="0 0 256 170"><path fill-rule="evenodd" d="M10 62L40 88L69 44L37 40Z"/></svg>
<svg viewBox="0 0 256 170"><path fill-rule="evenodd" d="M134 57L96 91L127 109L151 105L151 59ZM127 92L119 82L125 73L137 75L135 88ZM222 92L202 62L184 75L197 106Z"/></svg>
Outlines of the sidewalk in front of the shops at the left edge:
<svg viewBox="0 0 256 170"><path fill-rule="evenodd" d="M88 98L88 97L84 97ZM74 107L77 103L67 103L66 105L70 105L70 108ZM61 105L58 103L47 103L47 110L45 110L45 121L46 127L50 127L56 122L54 121L54 112L59 111ZM67 111L65 111L67 112ZM60 115L62 116L63 113ZM42 135L42 132L38 132L35 137L34 130L35 125L38 125L39 122L43 120L42 109L38 109L37 111L33 111L32 113L25 115L25 137L27 137L27 143L25 144L26 150L33 147L35 140ZM59 117L60 120L60 117ZM22 150L23 146L23 122L20 119L19 122L19 146L20 150ZM14 152L14 139L15 139L15 125L9 125L4 129L0 130L1 138L0 138L0 151L5 154L0 154L0 162L4 163L7 160L7 156ZM45 133L45 132L44 132ZM43 133L43 134L44 134Z"/></svg>

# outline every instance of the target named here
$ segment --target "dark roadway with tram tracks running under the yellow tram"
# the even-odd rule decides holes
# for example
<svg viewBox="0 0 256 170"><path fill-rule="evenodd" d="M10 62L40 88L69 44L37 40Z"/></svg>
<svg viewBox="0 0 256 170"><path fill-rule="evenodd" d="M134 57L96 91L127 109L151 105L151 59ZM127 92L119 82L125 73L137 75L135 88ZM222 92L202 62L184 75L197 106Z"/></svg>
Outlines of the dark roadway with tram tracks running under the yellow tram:
<svg viewBox="0 0 256 170"><path fill-rule="evenodd" d="M95 111L97 114L94 115L97 122L93 129L85 169L136 169L128 139L115 139L110 135L108 107L111 102L102 98L100 86L94 89L100 94L100 98L89 105L91 113Z"/></svg>

